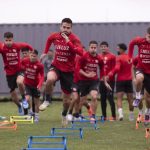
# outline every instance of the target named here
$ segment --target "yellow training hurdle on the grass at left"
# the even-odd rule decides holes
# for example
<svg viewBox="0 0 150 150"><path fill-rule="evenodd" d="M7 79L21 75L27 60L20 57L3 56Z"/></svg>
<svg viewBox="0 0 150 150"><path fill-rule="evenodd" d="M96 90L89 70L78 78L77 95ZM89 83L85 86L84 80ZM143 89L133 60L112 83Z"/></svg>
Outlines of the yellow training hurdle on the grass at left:
<svg viewBox="0 0 150 150"><path fill-rule="evenodd" d="M33 124L33 116L10 116L10 122Z"/></svg>

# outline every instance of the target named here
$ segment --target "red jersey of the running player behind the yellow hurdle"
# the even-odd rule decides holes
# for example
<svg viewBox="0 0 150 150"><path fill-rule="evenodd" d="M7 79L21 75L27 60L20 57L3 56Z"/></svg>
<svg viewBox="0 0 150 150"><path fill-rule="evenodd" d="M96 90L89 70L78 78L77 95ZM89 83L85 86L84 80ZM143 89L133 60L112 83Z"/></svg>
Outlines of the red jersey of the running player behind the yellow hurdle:
<svg viewBox="0 0 150 150"><path fill-rule="evenodd" d="M24 58L21 62L21 68L24 70L24 83L31 87L41 87L44 81L44 66L39 61L31 62L30 58Z"/></svg>

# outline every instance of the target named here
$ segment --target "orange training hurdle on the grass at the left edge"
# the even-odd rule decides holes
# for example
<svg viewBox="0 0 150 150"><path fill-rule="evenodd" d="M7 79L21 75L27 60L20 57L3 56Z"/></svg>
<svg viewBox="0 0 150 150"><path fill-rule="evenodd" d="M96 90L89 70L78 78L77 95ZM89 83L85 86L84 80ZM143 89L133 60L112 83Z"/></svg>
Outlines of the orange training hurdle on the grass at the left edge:
<svg viewBox="0 0 150 150"><path fill-rule="evenodd" d="M17 124L16 122L9 122L7 120L0 122L0 129L8 129L8 130L16 130Z"/></svg>

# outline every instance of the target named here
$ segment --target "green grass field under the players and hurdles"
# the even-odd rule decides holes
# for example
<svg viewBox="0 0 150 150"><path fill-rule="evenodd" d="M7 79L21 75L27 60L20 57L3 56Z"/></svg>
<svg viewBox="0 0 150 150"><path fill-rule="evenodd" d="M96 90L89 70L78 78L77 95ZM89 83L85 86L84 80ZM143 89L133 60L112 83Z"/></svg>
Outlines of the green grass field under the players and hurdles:
<svg viewBox="0 0 150 150"><path fill-rule="evenodd" d="M85 129L83 139L68 139L69 150L150 150L150 139L146 142L144 126L135 130L135 121L128 121L127 102L124 101L124 121L99 123L98 130ZM47 110L40 112L37 124L18 124L16 131L0 129L0 150L20 150L27 147L30 135L49 135L52 127L61 126L62 102L53 102ZM109 110L109 106L108 106ZM84 114L86 110L84 109ZM11 102L0 103L0 115L9 118L17 115L17 108ZM98 106L100 115L100 106ZM110 114L110 112L109 112ZM135 110L137 116L137 110Z"/></svg>

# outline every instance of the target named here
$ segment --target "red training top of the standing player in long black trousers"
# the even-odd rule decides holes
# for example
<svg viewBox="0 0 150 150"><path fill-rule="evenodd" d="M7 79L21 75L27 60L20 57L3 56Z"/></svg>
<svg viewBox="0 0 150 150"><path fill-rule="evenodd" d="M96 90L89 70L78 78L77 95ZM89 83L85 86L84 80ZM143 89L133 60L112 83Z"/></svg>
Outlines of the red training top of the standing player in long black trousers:
<svg viewBox="0 0 150 150"><path fill-rule="evenodd" d="M103 60L104 65L102 67L105 66L105 74L107 75L112 69L115 68L116 65L116 56L114 54L112 54L111 52L107 52L107 53L102 53L100 54L100 57ZM103 80L103 76L104 76L104 68L101 68L100 70L100 80ZM114 81L115 75L113 75L109 80L110 81Z"/></svg>

